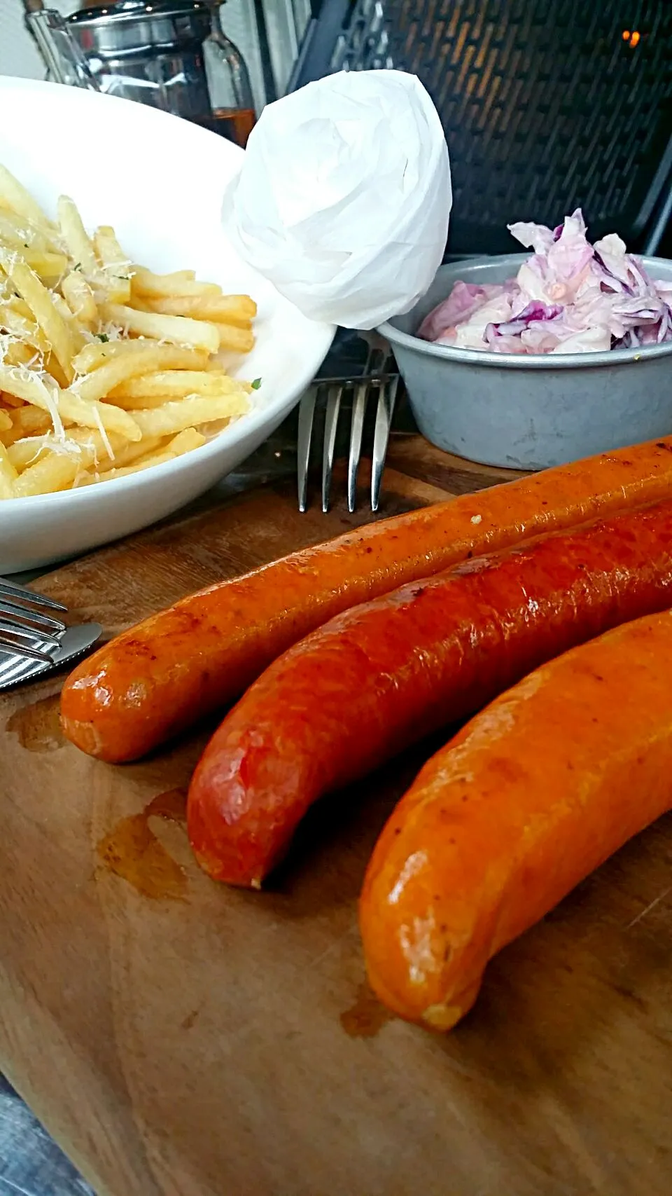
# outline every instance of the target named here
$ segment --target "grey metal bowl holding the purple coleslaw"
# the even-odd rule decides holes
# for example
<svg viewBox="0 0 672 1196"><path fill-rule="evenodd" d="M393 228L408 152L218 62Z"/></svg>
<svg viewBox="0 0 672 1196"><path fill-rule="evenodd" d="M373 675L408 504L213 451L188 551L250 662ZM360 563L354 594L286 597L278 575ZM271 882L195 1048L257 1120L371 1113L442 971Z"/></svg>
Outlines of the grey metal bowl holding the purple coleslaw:
<svg viewBox="0 0 672 1196"><path fill-rule="evenodd" d="M424 437L485 465L545 469L672 433L672 342L610 353L481 353L413 332L458 279L502 282L527 254L442 266L423 299L378 331L393 346ZM654 277L672 261L644 257Z"/></svg>

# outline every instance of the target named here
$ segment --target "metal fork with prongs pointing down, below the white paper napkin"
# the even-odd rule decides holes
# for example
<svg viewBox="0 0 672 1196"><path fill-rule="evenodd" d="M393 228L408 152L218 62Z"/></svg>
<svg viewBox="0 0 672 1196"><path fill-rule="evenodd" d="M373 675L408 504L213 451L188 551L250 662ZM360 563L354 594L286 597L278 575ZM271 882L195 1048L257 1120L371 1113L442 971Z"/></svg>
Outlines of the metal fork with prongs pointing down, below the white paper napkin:
<svg viewBox="0 0 672 1196"><path fill-rule="evenodd" d="M322 451L322 509L325 513L329 511L338 411L343 395L347 391L353 392L350 450L348 454L348 511L355 509L364 419L368 399L372 395L378 396L378 405L375 409L375 431L373 433L371 464L371 509L378 511L380 483L383 481L383 469L385 466L398 385L399 376L395 370L395 360L390 354L390 349L387 346L383 347L380 342L373 340L369 342L368 360L365 373L361 377L317 378L306 391L299 407L297 459L299 511L305 511L307 505L308 464L314 426L314 409L318 397L324 396L325 392L326 409Z"/></svg>

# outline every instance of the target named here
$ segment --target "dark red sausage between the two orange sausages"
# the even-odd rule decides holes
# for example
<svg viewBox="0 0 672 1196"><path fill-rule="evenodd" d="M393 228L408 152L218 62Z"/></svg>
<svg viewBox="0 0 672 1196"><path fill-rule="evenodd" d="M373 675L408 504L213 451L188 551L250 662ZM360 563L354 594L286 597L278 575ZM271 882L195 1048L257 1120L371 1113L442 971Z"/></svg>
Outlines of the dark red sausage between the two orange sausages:
<svg viewBox="0 0 672 1196"><path fill-rule="evenodd" d="M532 669L672 604L672 501L453 565L285 652L210 739L188 829L214 880L258 887L323 793L464 720Z"/></svg>

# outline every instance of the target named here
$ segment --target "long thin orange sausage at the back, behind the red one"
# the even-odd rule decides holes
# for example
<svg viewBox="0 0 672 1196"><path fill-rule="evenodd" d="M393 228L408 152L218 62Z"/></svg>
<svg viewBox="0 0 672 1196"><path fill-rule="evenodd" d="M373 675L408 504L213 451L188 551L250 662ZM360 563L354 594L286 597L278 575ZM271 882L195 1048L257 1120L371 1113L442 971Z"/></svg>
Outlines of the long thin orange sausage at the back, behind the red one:
<svg viewBox="0 0 672 1196"><path fill-rule="evenodd" d="M672 437L381 520L224 581L99 648L63 687L63 732L135 759L236 698L281 652L349 606L468 556L672 498Z"/></svg>

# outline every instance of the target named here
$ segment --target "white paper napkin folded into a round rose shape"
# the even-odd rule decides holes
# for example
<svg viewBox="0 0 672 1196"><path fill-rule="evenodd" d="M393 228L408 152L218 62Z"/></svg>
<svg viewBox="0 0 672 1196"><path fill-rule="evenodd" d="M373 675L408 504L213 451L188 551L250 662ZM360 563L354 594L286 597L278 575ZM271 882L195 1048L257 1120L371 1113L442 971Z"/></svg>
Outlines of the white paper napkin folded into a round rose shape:
<svg viewBox="0 0 672 1196"><path fill-rule="evenodd" d="M341 72L264 109L224 201L238 252L312 319L369 329L441 264L448 150L420 80Z"/></svg>

